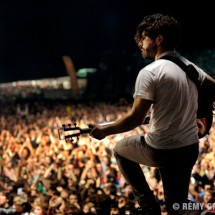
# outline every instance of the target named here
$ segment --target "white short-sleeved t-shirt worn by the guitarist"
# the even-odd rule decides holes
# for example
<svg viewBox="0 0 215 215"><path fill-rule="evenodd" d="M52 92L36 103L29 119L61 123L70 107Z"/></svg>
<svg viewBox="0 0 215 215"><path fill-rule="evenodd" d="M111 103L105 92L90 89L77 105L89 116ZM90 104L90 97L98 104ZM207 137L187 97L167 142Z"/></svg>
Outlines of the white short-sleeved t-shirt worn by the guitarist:
<svg viewBox="0 0 215 215"><path fill-rule="evenodd" d="M191 63L180 58L187 65ZM203 81L206 73L194 66ZM145 135L148 145L157 149L173 149L199 141L197 88L178 65L164 59L147 65L137 76L135 97L153 101L149 132Z"/></svg>

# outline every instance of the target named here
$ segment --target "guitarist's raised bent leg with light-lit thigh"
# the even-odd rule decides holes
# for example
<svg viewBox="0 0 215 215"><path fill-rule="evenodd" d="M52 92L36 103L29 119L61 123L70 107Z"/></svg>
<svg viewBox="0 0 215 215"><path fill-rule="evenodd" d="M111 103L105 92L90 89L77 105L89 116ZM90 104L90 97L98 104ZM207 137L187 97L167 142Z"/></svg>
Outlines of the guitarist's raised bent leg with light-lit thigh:
<svg viewBox="0 0 215 215"><path fill-rule="evenodd" d="M129 137L117 143L114 148L114 155L122 175L127 183L131 185L133 193L142 208L140 214L160 215L160 206L140 167L140 163L148 165L150 163L145 147L147 146L143 137Z"/></svg>

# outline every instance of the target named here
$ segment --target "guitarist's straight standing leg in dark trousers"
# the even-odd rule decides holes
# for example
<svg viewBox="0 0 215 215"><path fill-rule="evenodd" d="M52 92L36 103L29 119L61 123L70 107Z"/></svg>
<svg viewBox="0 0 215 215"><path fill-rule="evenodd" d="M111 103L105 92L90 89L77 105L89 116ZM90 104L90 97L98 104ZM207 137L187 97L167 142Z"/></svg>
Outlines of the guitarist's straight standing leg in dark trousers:
<svg viewBox="0 0 215 215"><path fill-rule="evenodd" d="M172 150L172 153L168 152L168 154L172 163L160 167L159 171L163 182L167 210L171 215L174 215L186 211L191 172L198 158L198 144ZM183 203L185 208L183 208ZM194 214L194 211L190 212Z"/></svg>

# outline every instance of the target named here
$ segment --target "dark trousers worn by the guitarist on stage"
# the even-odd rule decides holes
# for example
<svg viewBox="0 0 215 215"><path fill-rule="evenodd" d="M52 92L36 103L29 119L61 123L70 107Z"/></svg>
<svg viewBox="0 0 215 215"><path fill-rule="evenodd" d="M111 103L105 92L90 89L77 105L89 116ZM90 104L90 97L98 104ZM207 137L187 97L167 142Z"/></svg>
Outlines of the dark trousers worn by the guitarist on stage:
<svg viewBox="0 0 215 215"><path fill-rule="evenodd" d="M158 168L168 211L174 203L187 201L191 172L198 154L198 143L177 149L155 149L146 144L141 135L127 137L114 147L119 170L137 198L144 196L145 201L147 196L151 198L140 164Z"/></svg>

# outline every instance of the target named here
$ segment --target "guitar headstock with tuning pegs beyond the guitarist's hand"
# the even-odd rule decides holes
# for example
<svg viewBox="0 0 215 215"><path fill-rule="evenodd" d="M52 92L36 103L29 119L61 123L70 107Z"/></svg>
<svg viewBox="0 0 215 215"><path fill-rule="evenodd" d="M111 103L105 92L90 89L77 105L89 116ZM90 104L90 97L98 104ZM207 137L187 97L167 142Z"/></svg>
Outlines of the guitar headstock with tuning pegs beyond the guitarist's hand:
<svg viewBox="0 0 215 215"><path fill-rule="evenodd" d="M73 137L79 137L81 134L87 134L91 131L91 128L80 128L76 123L63 124L62 127L58 128L58 136L60 140L71 140Z"/></svg>

